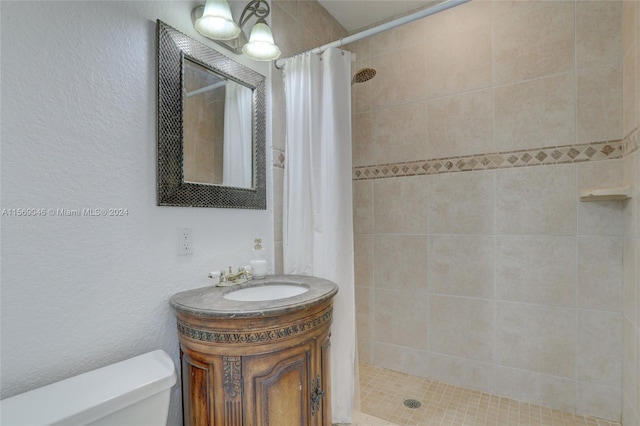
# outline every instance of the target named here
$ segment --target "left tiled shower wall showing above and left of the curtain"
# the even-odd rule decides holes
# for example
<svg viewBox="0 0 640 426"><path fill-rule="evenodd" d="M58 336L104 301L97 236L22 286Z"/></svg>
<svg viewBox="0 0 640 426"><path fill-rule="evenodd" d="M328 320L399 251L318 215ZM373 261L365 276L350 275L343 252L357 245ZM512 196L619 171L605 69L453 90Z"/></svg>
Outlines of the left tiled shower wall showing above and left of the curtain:
<svg viewBox="0 0 640 426"><path fill-rule="evenodd" d="M271 23L282 58L338 40L346 31L315 0L273 0ZM286 134L285 97L282 71L273 69L272 140L273 140L273 213L275 242L275 272L282 272L282 185Z"/></svg>

